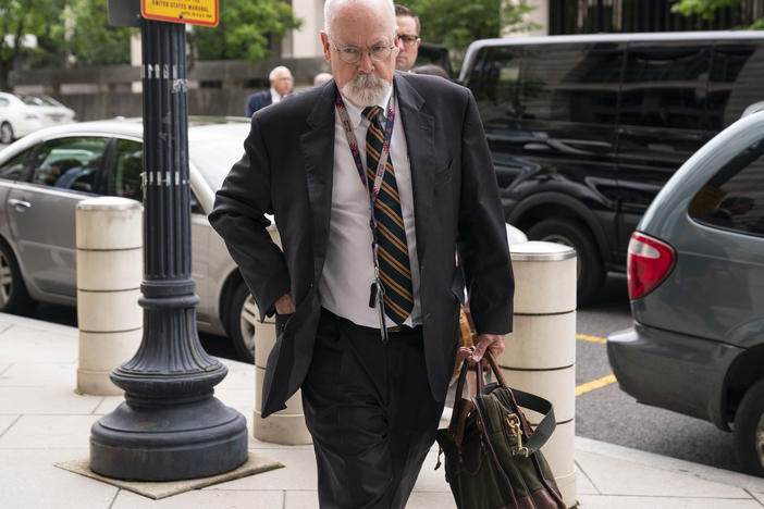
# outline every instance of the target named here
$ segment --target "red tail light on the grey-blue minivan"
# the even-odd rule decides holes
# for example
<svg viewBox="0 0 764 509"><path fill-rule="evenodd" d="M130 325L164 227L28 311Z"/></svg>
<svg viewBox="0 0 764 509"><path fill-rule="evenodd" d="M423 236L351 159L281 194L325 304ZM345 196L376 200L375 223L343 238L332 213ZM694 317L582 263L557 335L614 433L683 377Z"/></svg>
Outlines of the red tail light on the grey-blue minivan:
<svg viewBox="0 0 764 509"><path fill-rule="evenodd" d="M654 290L671 272L676 259L668 244L640 232L631 234L626 261L629 298L638 299Z"/></svg>

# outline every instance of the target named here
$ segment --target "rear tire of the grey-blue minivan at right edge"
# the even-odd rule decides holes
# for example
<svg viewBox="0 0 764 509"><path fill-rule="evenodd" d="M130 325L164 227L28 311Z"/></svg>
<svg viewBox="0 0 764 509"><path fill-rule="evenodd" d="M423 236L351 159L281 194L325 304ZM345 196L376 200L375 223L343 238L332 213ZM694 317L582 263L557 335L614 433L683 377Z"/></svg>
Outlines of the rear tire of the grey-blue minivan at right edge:
<svg viewBox="0 0 764 509"><path fill-rule="evenodd" d="M764 477L764 380L753 384L740 401L734 435L743 471Z"/></svg>

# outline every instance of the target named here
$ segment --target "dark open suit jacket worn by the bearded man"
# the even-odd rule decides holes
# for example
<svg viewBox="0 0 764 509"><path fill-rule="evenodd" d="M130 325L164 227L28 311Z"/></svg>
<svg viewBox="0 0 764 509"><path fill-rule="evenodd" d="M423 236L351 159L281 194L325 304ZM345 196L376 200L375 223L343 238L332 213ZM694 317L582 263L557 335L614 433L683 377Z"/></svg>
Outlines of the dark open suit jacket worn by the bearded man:
<svg viewBox="0 0 764 509"><path fill-rule="evenodd" d="M467 278L480 333L512 330L514 278L496 176L470 91L443 78L395 74L409 148L427 371L445 399ZM225 240L261 318L292 291L296 311L268 358L262 415L285 407L310 365L321 302L334 153L333 80L257 113L245 153L218 191L210 223ZM395 150L393 147L392 150ZM273 213L283 247L266 231ZM464 275L454 264L459 244Z"/></svg>

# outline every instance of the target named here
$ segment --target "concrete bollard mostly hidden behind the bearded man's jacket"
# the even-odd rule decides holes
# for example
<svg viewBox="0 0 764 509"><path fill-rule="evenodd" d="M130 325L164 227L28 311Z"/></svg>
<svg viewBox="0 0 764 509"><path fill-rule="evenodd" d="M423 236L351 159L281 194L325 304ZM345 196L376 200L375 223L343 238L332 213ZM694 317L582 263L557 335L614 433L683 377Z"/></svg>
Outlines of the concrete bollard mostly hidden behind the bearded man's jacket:
<svg viewBox="0 0 764 509"><path fill-rule="evenodd" d="M269 227L274 243L281 246L279 232L274 225ZM251 297L250 297L251 298ZM256 305L257 308L257 305ZM256 312L259 315L260 311ZM266 376L268 356L276 340L275 321L268 318L255 324L255 412L252 413L252 436L259 440L274 444L300 445L312 444L313 439L305 424L303 396L299 390L286 401L286 408L263 419L262 381Z"/></svg>

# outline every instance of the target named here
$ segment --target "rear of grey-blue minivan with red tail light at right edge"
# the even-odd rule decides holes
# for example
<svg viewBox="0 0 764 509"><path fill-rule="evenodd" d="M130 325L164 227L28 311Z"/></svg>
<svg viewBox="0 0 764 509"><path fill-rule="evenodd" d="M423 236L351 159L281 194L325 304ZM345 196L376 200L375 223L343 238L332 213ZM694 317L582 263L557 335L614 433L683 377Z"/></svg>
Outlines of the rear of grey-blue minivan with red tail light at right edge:
<svg viewBox="0 0 764 509"><path fill-rule="evenodd" d="M764 476L764 111L695 152L628 249L633 327L607 338L620 388L734 431Z"/></svg>

